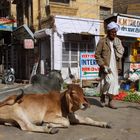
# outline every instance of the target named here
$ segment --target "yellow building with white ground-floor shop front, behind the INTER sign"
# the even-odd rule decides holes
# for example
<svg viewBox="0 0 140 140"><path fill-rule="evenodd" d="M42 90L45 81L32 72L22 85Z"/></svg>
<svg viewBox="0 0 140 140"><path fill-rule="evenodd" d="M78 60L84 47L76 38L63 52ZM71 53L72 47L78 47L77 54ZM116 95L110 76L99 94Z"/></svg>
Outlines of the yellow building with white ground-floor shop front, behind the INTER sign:
<svg viewBox="0 0 140 140"><path fill-rule="evenodd" d="M45 74L47 60L50 69L62 71L64 79L68 78L69 67L80 79L81 52L95 51L100 36L104 36L103 19L111 14L112 5L112 1L103 0L48 1L43 8L46 16L40 15L41 30L35 32L42 52L41 73Z"/></svg>

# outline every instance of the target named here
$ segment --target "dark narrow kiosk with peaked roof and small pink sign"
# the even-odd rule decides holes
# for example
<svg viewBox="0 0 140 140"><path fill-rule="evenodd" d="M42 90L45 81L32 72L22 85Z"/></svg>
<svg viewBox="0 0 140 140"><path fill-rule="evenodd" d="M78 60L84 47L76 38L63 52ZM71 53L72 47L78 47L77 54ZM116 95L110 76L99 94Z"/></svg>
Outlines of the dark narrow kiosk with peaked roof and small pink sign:
<svg viewBox="0 0 140 140"><path fill-rule="evenodd" d="M29 80L34 65L34 35L24 24L12 32L12 61L16 80Z"/></svg>

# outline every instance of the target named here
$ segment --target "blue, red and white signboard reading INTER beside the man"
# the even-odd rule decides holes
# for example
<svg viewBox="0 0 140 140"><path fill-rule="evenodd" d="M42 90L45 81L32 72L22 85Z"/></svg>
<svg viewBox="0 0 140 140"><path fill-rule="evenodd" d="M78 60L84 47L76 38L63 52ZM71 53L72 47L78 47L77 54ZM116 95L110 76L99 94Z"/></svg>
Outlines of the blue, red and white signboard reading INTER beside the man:
<svg viewBox="0 0 140 140"><path fill-rule="evenodd" d="M81 79L97 78L99 66L95 61L94 52L81 52L80 55L80 77Z"/></svg>

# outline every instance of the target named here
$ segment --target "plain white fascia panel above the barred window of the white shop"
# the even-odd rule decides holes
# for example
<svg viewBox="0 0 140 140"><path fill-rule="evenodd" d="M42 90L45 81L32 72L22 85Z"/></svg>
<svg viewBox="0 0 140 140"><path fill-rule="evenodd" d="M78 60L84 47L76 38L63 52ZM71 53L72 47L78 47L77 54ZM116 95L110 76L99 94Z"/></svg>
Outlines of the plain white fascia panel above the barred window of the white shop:
<svg viewBox="0 0 140 140"><path fill-rule="evenodd" d="M78 33L78 34L100 34L101 20L76 18L68 16L55 16L55 25L60 34Z"/></svg>

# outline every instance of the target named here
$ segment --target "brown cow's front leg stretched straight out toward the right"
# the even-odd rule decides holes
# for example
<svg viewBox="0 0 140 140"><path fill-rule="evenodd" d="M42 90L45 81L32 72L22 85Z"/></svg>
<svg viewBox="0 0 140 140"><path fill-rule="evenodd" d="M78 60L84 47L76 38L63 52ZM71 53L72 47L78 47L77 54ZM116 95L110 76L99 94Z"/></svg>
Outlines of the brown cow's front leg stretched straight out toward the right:
<svg viewBox="0 0 140 140"><path fill-rule="evenodd" d="M89 117L82 117L74 113L69 114L69 120L71 124L85 124L103 128L111 128L111 125L107 122L94 121Z"/></svg>

